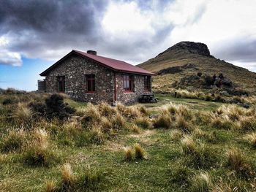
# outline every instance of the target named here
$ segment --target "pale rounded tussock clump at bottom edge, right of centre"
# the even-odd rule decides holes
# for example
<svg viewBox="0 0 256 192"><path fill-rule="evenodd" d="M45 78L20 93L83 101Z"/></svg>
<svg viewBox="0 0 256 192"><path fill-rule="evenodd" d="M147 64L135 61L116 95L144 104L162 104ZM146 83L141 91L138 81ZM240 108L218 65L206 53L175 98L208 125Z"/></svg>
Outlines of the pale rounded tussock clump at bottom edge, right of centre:
<svg viewBox="0 0 256 192"><path fill-rule="evenodd" d="M206 192L210 191L212 185L211 175L207 172L201 172L200 174L195 175L191 180L190 191L195 192Z"/></svg>

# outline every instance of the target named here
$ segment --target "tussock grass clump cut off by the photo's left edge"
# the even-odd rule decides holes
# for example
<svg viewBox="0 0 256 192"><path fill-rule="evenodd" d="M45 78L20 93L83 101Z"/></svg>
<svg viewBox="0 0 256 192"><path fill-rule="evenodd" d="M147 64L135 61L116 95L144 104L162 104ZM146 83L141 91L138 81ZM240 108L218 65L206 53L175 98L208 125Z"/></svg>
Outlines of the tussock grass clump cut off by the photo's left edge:
<svg viewBox="0 0 256 192"><path fill-rule="evenodd" d="M2 152L12 152L20 150L23 147L25 139L25 133L22 130L10 131L6 137L2 139L1 151Z"/></svg>

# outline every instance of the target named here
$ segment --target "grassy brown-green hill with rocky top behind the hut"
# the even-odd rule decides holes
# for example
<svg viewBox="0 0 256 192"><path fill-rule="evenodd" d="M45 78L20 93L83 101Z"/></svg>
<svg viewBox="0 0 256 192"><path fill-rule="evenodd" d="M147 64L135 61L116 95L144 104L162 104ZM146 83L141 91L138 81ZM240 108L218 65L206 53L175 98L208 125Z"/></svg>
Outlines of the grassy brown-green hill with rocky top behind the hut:
<svg viewBox="0 0 256 192"><path fill-rule="evenodd" d="M222 73L236 88L246 89L249 92L255 92L256 88L256 73L214 58L207 45L203 43L179 42L138 66L158 74L154 77L153 84L154 89L157 90L181 85L182 78L195 76L198 72L203 74L201 79ZM185 87L198 89L203 86L187 83Z"/></svg>

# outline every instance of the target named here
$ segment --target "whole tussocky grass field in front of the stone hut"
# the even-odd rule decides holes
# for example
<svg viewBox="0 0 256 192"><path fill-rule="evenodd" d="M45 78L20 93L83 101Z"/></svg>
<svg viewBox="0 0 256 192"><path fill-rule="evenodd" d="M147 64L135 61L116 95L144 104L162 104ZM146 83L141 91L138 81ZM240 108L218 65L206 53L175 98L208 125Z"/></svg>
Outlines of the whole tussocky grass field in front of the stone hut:
<svg viewBox="0 0 256 192"><path fill-rule="evenodd" d="M0 95L0 191L256 191L254 105L157 97L65 97L76 112L59 119L39 115L49 95Z"/></svg>

